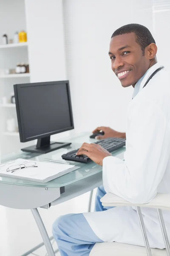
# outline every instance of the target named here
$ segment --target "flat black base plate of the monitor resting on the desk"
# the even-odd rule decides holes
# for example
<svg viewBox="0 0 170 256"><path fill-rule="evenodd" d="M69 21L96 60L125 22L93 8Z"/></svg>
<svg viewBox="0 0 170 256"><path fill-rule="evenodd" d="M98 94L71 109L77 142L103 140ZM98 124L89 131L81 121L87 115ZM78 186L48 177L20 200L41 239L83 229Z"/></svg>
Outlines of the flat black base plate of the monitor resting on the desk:
<svg viewBox="0 0 170 256"><path fill-rule="evenodd" d="M49 145L44 145L37 148L37 145L33 145L27 148L21 148L24 152L37 153L37 154L46 154L48 152L57 150L59 148L63 148L71 145L71 143L63 143L63 142L51 142Z"/></svg>

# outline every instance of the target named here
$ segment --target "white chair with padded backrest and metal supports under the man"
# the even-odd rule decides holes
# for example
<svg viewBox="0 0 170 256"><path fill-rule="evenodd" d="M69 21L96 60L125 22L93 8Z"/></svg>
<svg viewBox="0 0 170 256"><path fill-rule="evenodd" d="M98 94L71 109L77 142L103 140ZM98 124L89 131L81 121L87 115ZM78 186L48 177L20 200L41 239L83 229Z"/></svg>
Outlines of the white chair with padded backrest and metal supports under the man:
<svg viewBox="0 0 170 256"><path fill-rule="evenodd" d="M100 200L103 206L136 206L136 211L139 217L139 223L144 238L145 247L122 244L116 242L96 243L91 250L90 256L170 256L170 244L167 237L167 232L164 224L164 219L161 209L170 210L170 195L158 193L152 201L147 204L131 204L117 195L111 193L106 194ZM158 212L159 222L166 249L150 249L147 234L144 228L144 221L140 207L156 208Z"/></svg>

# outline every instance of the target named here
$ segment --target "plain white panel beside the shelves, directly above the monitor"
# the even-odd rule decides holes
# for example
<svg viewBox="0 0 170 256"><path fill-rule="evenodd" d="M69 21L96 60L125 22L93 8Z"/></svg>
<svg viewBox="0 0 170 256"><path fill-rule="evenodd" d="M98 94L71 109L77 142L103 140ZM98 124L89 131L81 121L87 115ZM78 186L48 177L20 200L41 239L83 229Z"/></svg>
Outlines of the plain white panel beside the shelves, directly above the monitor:
<svg viewBox="0 0 170 256"><path fill-rule="evenodd" d="M62 0L25 0L31 82L66 79Z"/></svg>

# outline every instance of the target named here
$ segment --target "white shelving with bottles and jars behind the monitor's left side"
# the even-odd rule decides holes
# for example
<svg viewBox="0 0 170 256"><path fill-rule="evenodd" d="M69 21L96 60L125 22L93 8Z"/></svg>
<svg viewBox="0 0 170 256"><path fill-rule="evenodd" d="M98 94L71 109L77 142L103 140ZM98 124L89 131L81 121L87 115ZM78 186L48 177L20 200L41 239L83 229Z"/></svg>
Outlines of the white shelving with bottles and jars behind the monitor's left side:
<svg viewBox="0 0 170 256"><path fill-rule="evenodd" d="M13 100L11 101L11 99L13 99L11 97L14 96L13 85L30 83L31 76L32 76L32 73L15 73L15 68L17 67L17 63L20 63L20 64L28 63L29 68L31 68L30 67L31 65L29 62L29 55L30 55L29 38L27 42L19 43L19 39L20 39L19 35L17 38L17 36L14 34L17 31L19 33L21 30L25 31L27 33L27 36L29 34L27 23L29 25L30 22L27 22L26 20L26 12L27 12L26 5L27 5L27 0L26 1L24 0L0 1L0 7L2 7L0 8L0 24L3 24L3 26L2 25L0 26L0 37L1 37L0 38L0 148L2 149L1 153L3 154L3 156L6 154L10 154L12 152L16 152L20 150L20 148L22 148L23 146L23 144L20 142L20 134L17 128L18 122L17 122L16 104L11 103L11 102L14 102ZM17 18L14 19L13 18L14 15L12 16L12 14L15 14ZM6 17L8 17L8 20L6 19ZM34 23L34 20L33 20L33 23ZM36 28L36 24L34 24L34 26ZM8 44L3 44L5 43L5 41L2 40L3 39L2 35L4 34L7 34L8 36ZM16 36L16 40L15 40L15 36ZM31 41L33 41L31 45L34 46L34 39L31 38ZM33 55L36 54L36 52L37 52L37 49L35 53L33 53ZM33 63L34 62L35 61L33 58ZM35 64L35 67L37 67L37 62ZM52 67L54 67L54 64L52 64ZM20 72L19 69L16 71ZM25 69L21 71L25 71ZM8 121L10 119L13 119L13 121L9 122L8 124ZM14 127L12 125L13 122L14 122ZM31 143L27 143L27 144L31 145Z"/></svg>

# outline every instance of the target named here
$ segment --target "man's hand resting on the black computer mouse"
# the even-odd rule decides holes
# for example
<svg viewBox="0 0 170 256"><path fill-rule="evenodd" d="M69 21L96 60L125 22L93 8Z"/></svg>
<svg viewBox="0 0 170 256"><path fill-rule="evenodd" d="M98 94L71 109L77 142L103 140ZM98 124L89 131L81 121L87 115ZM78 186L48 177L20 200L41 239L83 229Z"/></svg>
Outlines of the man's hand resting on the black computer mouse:
<svg viewBox="0 0 170 256"><path fill-rule="evenodd" d="M100 135L100 136L96 136L95 139L102 140L102 139L111 138L111 137L126 138L126 134L124 132L115 131L115 130L111 129L110 127L105 127L105 126L97 127L93 131L93 133L98 133L101 130L105 134L104 135Z"/></svg>

